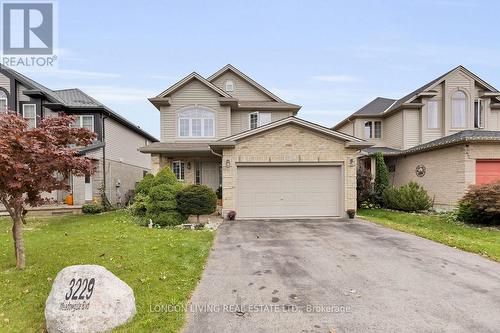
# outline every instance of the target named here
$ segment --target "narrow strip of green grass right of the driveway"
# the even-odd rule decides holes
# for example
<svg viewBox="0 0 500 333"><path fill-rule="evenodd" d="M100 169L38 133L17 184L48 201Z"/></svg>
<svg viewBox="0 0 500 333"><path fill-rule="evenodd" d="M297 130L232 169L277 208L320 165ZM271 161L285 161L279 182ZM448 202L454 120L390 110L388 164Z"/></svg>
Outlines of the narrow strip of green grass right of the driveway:
<svg viewBox="0 0 500 333"><path fill-rule="evenodd" d="M358 215L386 227L478 253L500 261L500 230L475 227L446 219L444 215L424 215L385 209L360 209Z"/></svg>

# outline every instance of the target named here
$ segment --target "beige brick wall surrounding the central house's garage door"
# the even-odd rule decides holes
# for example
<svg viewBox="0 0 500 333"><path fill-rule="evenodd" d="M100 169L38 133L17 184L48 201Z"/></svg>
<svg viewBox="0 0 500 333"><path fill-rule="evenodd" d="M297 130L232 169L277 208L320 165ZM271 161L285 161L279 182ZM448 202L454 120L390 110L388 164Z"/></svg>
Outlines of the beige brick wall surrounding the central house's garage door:
<svg viewBox="0 0 500 333"><path fill-rule="evenodd" d="M223 151L223 211L237 207L237 165L258 163L335 163L342 167L343 211L356 208L356 149L344 141L301 126L288 124L241 139Z"/></svg>

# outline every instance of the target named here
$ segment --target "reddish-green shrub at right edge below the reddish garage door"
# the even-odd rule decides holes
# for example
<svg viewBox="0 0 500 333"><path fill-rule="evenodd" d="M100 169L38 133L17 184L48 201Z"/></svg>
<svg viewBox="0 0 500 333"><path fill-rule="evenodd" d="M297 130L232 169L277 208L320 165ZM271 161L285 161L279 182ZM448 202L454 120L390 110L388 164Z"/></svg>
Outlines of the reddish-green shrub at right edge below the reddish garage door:
<svg viewBox="0 0 500 333"><path fill-rule="evenodd" d="M500 224L500 182L471 186L458 204L457 218L466 223Z"/></svg>

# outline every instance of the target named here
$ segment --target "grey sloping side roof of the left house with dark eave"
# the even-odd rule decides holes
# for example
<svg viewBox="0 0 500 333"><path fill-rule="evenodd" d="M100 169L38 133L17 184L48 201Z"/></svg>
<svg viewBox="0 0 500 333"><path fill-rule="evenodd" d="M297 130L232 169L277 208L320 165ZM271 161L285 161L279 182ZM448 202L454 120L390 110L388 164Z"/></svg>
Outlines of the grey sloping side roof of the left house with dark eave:
<svg viewBox="0 0 500 333"><path fill-rule="evenodd" d="M117 121L118 123L122 124L123 126L127 127L128 129L136 132L139 135L142 135L143 137L147 138L149 141L152 142L157 142L158 139L149 134L148 132L144 131L141 129L139 126L134 125L118 113L114 112L110 108L108 108L106 105L102 104L98 100L94 99L93 97L87 95L83 91L81 91L78 88L72 88L72 89L63 89L63 90L55 90L55 94L59 96L59 98L64 102L64 105L68 107L69 109L93 109L93 110L100 110L113 120Z"/></svg>

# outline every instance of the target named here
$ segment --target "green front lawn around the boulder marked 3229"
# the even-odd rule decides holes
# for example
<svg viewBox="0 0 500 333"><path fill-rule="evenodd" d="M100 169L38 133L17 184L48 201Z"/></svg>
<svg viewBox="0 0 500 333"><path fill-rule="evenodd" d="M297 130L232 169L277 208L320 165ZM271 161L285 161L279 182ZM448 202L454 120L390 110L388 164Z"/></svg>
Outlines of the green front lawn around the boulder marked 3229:
<svg viewBox="0 0 500 333"><path fill-rule="evenodd" d="M19 271L11 221L0 219L1 332L43 332L52 281L77 264L102 265L134 290L137 314L118 332L177 332L185 313L150 309L188 302L213 241L211 231L139 227L124 212L30 219L25 228L27 265Z"/></svg>

